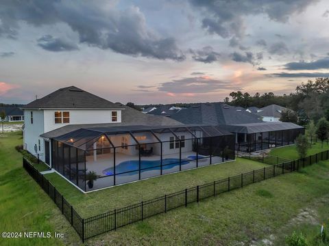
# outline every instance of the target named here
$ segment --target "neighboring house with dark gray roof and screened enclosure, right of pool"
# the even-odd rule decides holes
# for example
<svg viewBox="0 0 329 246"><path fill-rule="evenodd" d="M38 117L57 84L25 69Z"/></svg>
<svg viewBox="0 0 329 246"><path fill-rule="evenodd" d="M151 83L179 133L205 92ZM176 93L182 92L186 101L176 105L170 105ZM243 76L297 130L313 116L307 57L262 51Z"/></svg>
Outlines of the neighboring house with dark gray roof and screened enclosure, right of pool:
<svg viewBox="0 0 329 246"><path fill-rule="evenodd" d="M171 115L184 124L209 124L235 135L236 150L254 152L293 144L302 126L290 122L263 122L259 115L222 102L200 103Z"/></svg>

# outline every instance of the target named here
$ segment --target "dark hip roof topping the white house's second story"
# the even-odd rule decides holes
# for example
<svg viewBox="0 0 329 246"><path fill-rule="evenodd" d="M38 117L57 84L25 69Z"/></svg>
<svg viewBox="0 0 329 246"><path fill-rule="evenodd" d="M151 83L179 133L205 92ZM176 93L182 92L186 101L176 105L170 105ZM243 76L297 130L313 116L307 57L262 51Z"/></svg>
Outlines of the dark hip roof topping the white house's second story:
<svg viewBox="0 0 329 246"><path fill-rule="evenodd" d="M23 109L121 109L114 102L75 86L64 87L30 102Z"/></svg>

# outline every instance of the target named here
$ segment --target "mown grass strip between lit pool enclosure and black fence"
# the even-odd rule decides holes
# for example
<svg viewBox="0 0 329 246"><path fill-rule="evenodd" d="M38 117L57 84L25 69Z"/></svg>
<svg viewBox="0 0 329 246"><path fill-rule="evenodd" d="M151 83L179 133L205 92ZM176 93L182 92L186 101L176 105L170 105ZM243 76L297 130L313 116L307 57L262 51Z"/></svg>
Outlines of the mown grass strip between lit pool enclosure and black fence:
<svg viewBox="0 0 329 246"><path fill-rule="evenodd" d="M164 175L130 184L123 184L101 191L83 194L58 174L47 174L46 177L66 197L78 213L84 217L105 213L114 208L149 200L164 194L195 187L228 176L234 176L252 169L265 167L263 163L237 159L228 163L193 169L186 172ZM115 198L114 198L115 197Z"/></svg>

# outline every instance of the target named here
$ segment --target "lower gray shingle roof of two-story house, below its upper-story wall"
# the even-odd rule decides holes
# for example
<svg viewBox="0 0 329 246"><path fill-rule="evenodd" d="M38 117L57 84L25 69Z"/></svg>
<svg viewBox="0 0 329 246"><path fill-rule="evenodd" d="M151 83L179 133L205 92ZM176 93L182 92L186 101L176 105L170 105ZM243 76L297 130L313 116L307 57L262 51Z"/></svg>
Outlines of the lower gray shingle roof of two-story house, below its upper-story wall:
<svg viewBox="0 0 329 246"><path fill-rule="evenodd" d="M80 128L89 127L113 127L113 126L134 126L134 125L147 125L147 126L173 126L183 125L181 122L171 118L160 115L147 115L131 107L117 103L118 107L125 110L121 113L121 123L103 123L103 124L69 124L53 131L49 131L40 135L45 138L58 137L60 135L75 131Z"/></svg>

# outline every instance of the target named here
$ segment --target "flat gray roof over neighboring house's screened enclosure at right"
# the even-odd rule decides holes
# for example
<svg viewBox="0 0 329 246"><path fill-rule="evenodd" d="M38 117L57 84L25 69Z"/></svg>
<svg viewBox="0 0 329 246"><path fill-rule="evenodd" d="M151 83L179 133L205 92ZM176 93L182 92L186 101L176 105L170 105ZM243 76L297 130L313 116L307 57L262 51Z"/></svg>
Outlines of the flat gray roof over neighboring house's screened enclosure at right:
<svg viewBox="0 0 329 246"><path fill-rule="evenodd" d="M222 125L221 128L231 133L266 133L269 131L282 131L292 129L302 129L303 126L291 122L262 122L249 124Z"/></svg>

